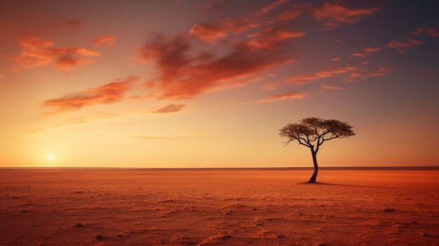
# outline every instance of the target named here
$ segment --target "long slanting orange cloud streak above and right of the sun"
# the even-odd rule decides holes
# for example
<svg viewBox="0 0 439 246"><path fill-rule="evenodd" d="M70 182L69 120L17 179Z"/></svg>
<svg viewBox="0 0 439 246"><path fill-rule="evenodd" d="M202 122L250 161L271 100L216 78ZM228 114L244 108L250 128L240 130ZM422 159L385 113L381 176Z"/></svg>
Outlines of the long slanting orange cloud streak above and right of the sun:
<svg viewBox="0 0 439 246"><path fill-rule="evenodd" d="M47 100L43 106L55 107L60 110L81 109L85 106L96 104L112 104L123 100L124 94L131 90L131 85L137 81L137 76L118 79L104 86L83 90L79 93L71 93L64 97Z"/></svg>

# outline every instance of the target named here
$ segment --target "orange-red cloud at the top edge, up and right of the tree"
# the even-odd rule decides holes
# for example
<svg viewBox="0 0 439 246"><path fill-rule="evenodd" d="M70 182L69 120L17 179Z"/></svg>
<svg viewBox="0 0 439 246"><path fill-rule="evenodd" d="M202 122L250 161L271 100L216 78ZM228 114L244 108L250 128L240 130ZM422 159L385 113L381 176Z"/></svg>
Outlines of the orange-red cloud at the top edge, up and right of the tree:
<svg viewBox="0 0 439 246"><path fill-rule="evenodd" d="M325 3L320 8L311 8L311 13L318 21L323 21L325 27L334 28L344 24L360 21L379 8L346 8L332 3Z"/></svg>

